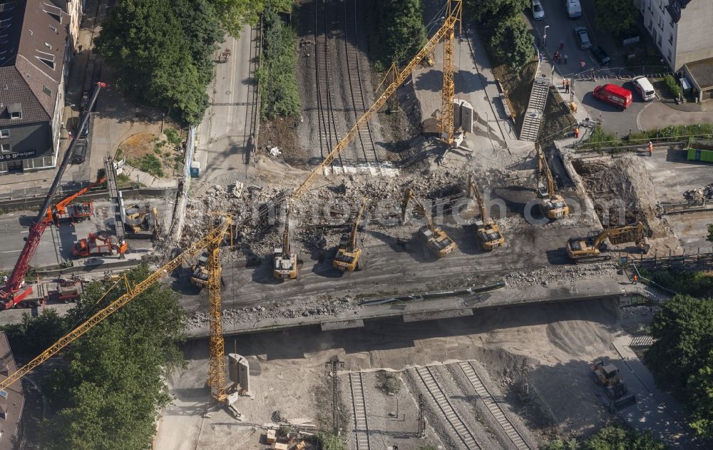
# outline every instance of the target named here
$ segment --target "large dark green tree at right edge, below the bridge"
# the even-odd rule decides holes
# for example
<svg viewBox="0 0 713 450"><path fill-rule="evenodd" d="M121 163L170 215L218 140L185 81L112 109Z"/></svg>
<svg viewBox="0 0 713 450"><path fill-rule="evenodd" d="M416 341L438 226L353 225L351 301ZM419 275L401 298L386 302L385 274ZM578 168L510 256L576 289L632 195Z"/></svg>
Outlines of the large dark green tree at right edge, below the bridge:
<svg viewBox="0 0 713 450"><path fill-rule="evenodd" d="M654 317L644 355L657 384L684 399L688 424L713 436L713 298L677 295Z"/></svg>

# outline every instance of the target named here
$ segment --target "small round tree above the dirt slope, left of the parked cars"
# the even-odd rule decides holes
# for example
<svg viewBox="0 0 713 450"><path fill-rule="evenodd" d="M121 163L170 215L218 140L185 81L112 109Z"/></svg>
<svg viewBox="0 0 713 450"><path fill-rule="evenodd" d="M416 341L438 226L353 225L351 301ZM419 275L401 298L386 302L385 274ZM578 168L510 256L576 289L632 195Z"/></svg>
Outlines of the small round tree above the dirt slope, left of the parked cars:
<svg viewBox="0 0 713 450"><path fill-rule="evenodd" d="M533 57L533 36L520 16L500 22L491 39L491 48L511 68L520 68Z"/></svg>

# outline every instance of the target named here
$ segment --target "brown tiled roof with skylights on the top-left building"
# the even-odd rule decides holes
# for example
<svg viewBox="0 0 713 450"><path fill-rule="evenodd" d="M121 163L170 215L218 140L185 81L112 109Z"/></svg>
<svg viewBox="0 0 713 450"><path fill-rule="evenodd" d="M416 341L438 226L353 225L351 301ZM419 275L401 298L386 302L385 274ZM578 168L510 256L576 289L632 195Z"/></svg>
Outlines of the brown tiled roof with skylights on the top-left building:
<svg viewBox="0 0 713 450"><path fill-rule="evenodd" d="M0 126L54 115L68 21L51 1L0 0Z"/></svg>

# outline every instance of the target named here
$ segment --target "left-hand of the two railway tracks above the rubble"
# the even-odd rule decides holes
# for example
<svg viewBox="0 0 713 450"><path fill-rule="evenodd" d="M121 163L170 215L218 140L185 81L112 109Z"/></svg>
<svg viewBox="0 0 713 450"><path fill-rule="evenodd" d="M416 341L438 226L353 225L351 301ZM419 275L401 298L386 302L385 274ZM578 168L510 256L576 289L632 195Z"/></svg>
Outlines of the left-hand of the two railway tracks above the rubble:
<svg viewBox="0 0 713 450"><path fill-rule="evenodd" d="M334 98L331 76L329 73L329 35L332 24L329 21L329 0L314 0L314 64L317 78L317 110L319 116L319 150L322 160L339 143L337 121L334 117ZM334 167L334 163L332 167ZM339 165L344 168L342 155L339 155Z"/></svg>

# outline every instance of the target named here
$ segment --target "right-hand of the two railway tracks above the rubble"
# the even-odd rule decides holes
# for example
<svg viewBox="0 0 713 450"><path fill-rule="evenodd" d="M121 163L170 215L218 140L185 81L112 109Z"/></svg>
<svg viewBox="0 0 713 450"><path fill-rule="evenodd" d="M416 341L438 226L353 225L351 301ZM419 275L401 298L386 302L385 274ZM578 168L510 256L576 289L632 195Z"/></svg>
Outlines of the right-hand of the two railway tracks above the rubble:
<svg viewBox="0 0 713 450"><path fill-rule="evenodd" d="M356 4L356 0L344 0L344 49L347 55L349 91L354 105L354 123L366 112L366 98L364 96L364 84L361 80L361 63L359 63L359 31L356 24ZM365 128L359 128L359 145L361 146L361 153L364 154L366 164L370 165L373 162L378 165L379 155L376 154L374 135L371 133L371 125L368 122Z"/></svg>

